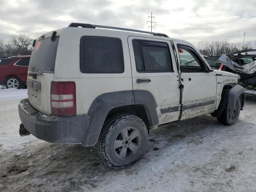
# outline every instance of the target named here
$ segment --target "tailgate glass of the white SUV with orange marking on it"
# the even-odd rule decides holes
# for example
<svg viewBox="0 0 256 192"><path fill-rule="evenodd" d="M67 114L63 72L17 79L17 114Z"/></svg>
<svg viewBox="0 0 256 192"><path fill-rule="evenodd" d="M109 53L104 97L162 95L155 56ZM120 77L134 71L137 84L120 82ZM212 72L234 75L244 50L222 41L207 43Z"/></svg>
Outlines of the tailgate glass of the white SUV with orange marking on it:
<svg viewBox="0 0 256 192"><path fill-rule="evenodd" d="M36 42L28 66L29 71L54 73L59 38L57 36L53 42L51 38Z"/></svg>

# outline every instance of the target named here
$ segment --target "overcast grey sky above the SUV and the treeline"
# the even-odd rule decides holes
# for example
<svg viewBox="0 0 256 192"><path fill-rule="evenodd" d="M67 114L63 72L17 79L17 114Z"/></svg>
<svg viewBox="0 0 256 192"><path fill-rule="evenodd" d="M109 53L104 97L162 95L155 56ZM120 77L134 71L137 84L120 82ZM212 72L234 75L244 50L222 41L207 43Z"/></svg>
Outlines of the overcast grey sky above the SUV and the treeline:
<svg viewBox="0 0 256 192"><path fill-rule="evenodd" d="M255 0L0 0L0 38L63 28L71 22L150 30L192 42L256 41ZM149 20L149 19L148 19Z"/></svg>

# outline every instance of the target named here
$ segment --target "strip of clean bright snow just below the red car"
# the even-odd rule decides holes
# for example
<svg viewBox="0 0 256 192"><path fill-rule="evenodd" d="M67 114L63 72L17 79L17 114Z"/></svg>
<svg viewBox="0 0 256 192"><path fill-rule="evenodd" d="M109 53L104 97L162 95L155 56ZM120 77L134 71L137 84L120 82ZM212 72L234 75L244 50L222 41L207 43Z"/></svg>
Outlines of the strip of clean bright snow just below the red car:
<svg viewBox="0 0 256 192"><path fill-rule="evenodd" d="M0 99L10 99L10 98L26 98L28 97L27 89L0 89Z"/></svg>

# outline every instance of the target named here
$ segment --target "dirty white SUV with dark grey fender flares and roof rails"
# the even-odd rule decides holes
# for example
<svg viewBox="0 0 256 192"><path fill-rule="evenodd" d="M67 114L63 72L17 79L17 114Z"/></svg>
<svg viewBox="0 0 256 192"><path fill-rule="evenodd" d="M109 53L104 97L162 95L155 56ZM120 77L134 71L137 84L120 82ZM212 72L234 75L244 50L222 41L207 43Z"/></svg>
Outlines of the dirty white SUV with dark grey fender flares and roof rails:
<svg viewBox="0 0 256 192"><path fill-rule="evenodd" d="M97 145L105 164L124 168L140 159L152 127L204 114L234 124L245 100L237 80L189 42L72 23L34 42L20 135Z"/></svg>

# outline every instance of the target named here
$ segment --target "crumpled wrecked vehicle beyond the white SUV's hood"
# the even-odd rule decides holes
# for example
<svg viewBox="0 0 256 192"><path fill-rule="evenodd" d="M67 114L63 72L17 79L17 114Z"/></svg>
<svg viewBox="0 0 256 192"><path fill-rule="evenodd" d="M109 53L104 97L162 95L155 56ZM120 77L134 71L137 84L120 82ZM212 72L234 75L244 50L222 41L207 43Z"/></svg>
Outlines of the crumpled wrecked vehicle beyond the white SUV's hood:
<svg viewBox="0 0 256 192"><path fill-rule="evenodd" d="M232 54L222 54L219 70L238 75L238 82L247 94L256 95L256 50L242 50Z"/></svg>

